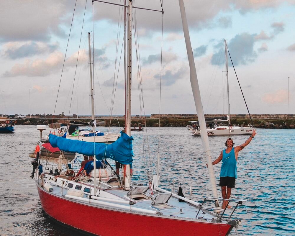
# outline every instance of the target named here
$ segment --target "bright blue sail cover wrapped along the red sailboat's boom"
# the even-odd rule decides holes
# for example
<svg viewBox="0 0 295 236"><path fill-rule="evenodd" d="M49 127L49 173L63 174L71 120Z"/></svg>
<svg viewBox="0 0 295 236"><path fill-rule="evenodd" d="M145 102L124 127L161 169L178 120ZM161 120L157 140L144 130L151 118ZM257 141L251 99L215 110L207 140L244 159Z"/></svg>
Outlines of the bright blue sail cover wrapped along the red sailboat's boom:
<svg viewBox="0 0 295 236"><path fill-rule="evenodd" d="M59 148L65 152L79 153L88 156L96 156L97 160L110 158L122 164L132 164L132 140L127 134L121 131L121 137L112 144L99 142L83 142L71 140L56 135L49 135L49 142L54 148Z"/></svg>

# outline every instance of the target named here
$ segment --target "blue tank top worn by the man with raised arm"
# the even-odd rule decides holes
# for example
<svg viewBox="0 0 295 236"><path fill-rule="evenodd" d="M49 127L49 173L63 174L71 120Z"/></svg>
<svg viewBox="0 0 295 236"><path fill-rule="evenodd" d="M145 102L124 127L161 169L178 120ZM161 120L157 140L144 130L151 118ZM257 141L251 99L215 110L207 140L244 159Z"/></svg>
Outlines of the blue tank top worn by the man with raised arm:
<svg viewBox="0 0 295 236"><path fill-rule="evenodd" d="M235 157L235 149L232 148L230 153L222 151L222 165L220 177L235 177L237 178L237 160Z"/></svg>

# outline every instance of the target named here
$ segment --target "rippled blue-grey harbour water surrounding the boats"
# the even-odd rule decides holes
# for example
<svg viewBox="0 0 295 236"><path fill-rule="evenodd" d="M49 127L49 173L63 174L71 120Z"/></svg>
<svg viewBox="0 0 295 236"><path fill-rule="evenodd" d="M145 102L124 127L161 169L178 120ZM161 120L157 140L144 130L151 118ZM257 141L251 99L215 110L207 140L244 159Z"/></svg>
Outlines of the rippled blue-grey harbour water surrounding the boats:
<svg viewBox="0 0 295 236"><path fill-rule="evenodd" d="M119 128L111 128L119 131ZM106 128L102 128L105 131ZM48 133L49 129L45 131ZM134 137L132 180L144 183L147 167L156 170L158 128L147 128L148 136L132 132ZM237 163L236 188L232 196L247 199L232 216L242 219L230 235L295 235L295 130L257 130L257 135L242 151ZM53 222L42 210L37 189L29 176L32 172L28 153L35 148L39 131L35 126L16 125L15 132L0 134L0 235L77 235ZM147 148L146 141L150 144ZM224 149L227 137L209 137L212 159ZM248 135L232 136L240 145ZM174 191L180 186L189 198L201 202L211 195L211 187L200 137L185 128L161 127L160 187ZM145 158L150 155L150 160ZM78 157L81 159L81 157ZM221 163L214 165L216 184ZM217 186L221 197L220 187ZM70 209L63 209L71 214ZM87 216L89 217L89 216Z"/></svg>

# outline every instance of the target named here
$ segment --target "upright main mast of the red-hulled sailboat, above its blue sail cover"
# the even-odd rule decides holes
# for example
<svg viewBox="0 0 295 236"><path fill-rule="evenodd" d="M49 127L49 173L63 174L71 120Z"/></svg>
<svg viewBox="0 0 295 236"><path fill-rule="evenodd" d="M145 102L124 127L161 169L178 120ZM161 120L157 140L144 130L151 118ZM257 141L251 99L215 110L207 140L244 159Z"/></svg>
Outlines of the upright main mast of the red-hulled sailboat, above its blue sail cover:
<svg viewBox="0 0 295 236"><path fill-rule="evenodd" d="M127 86L126 86L126 120L125 128L126 134L131 136L131 73L132 73L132 0L129 0L128 6L128 18L127 18ZM130 190L130 165L124 165L124 189Z"/></svg>

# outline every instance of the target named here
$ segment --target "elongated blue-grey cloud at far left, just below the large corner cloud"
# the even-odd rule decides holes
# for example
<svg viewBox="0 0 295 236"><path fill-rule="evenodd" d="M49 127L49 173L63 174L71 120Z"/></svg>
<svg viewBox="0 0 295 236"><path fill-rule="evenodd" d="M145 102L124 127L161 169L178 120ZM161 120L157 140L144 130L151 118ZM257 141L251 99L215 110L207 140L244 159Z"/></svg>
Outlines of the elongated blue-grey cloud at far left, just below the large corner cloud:
<svg viewBox="0 0 295 236"><path fill-rule="evenodd" d="M58 48L58 43L47 44L44 42L8 42L3 45L4 58L17 59L31 57L43 53L52 53Z"/></svg>

